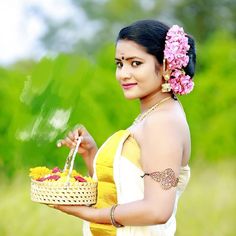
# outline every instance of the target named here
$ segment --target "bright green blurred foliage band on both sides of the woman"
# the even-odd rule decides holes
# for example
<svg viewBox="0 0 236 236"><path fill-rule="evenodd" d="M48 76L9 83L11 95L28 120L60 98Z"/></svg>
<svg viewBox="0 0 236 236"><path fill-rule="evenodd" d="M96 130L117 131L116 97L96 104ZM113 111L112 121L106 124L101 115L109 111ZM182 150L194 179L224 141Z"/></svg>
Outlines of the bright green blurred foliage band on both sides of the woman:
<svg viewBox="0 0 236 236"><path fill-rule="evenodd" d="M198 45L195 89L180 97L192 133L192 161L236 155L236 41L225 32ZM57 149L76 124L100 146L125 129L139 112L115 79L114 45L90 57L60 54L38 63L0 69L0 173L12 176L37 165L62 167L68 153ZM77 165L84 170L81 158Z"/></svg>

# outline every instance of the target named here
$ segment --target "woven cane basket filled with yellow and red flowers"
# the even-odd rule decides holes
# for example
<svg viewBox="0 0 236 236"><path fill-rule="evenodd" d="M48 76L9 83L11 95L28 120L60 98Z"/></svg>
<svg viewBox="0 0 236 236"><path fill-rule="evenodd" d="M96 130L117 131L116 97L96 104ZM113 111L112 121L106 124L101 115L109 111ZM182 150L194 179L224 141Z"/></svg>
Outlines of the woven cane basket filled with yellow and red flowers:
<svg viewBox="0 0 236 236"><path fill-rule="evenodd" d="M97 182L76 170L62 171L39 166L30 169L31 200L46 204L92 205L96 203ZM69 183L69 184L68 184Z"/></svg>

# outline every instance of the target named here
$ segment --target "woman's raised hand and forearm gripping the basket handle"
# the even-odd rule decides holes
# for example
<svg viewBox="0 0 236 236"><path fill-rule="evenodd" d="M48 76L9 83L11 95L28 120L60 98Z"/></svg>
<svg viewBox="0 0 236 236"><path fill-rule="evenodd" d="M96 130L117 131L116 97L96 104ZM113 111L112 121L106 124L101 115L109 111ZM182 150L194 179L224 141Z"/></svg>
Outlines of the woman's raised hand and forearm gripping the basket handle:
<svg viewBox="0 0 236 236"><path fill-rule="evenodd" d="M76 140L78 137L82 137L81 144L78 149L78 153L83 157L85 164L88 168L89 175L93 175L93 160L97 153L97 144L93 137L86 130L83 125L79 125L73 131L69 132L68 135L57 142L57 146L66 146L68 148L74 148L76 146Z"/></svg>

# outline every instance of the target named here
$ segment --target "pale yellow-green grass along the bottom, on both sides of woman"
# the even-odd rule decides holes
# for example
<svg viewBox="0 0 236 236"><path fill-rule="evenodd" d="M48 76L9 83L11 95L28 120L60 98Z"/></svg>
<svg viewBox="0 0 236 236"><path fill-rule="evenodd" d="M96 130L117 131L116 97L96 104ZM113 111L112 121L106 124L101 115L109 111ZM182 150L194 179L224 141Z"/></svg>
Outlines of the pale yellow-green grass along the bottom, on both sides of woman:
<svg viewBox="0 0 236 236"><path fill-rule="evenodd" d="M236 232L236 162L194 164L180 198L176 236L233 236ZM1 236L80 236L81 220L30 200L30 182L18 175L0 182Z"/></svg>

